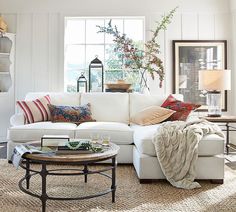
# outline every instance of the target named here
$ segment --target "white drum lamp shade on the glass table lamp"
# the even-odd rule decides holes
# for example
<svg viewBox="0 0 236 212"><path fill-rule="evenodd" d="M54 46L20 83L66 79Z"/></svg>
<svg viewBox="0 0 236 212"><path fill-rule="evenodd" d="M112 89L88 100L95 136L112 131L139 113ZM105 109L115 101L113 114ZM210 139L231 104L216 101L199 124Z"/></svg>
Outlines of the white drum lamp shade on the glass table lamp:
<svg viewBox="0 0 236 212"><path fill-rule="evenodd" d="M231 89L231 70L200 70L199 90L221 91Z"/></svg>

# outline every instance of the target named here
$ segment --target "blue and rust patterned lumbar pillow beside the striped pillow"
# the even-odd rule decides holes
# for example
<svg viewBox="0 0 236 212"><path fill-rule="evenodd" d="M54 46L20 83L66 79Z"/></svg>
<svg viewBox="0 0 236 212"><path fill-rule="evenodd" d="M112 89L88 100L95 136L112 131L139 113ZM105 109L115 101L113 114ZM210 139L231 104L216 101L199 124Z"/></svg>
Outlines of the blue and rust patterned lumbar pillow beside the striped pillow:
<svg viewBox="0 0 236 212"><path fill-rule="evenodd" d="M81 106L56 106L48 105L52 122L82 122L95 121L92 119L90 104Z"/></svg>

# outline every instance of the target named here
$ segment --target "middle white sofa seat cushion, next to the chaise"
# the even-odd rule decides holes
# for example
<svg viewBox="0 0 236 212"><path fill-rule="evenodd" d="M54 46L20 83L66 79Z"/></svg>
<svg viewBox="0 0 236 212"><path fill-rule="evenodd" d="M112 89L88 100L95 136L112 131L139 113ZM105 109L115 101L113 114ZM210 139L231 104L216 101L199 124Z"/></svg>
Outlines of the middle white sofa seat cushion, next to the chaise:
<svg viewBox="0 0 236 212"><path fill-rule="evenodd" d="M119 122L85 122L76 128L76 138L91 138L98 134L100 137L109 135L115 144L132 144L133 130L124 123Z"/></svg>

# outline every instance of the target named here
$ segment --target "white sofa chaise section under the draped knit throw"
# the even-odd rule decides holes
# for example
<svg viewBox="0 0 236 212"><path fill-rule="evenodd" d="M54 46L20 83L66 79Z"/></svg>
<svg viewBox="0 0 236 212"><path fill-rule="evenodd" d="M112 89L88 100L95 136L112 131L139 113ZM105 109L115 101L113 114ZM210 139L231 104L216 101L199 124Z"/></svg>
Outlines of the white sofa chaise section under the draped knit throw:
<svg viewBox="0 0 236 212"><path fill-rule="evenodd" d="M165 179L156 151L152 143L158 133L159 125L131 126L134 130L133 164L140 182L153 179ZM224 179L224 139L218 135L207 135L199 142L198 161L196 164L197 179L211 179L222 182Z"/></svg>

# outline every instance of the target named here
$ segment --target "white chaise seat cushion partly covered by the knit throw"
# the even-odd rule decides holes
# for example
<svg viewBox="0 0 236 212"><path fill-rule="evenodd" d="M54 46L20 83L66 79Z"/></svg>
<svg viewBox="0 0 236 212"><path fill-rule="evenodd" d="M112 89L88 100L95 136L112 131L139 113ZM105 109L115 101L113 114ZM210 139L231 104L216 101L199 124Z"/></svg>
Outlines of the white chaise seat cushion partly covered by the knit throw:
<svg viewBox="0 0 236 212"><path fill-rule="evenodd" d="M156 151L152 143L154 134L160 124L140 126L132 125L131 129L134 130L134 144L138 151L142 154L156 156ZM199 142L198 155L211 156L222 154L224 151L224 139L218 135L206 135Z"/></svg>

